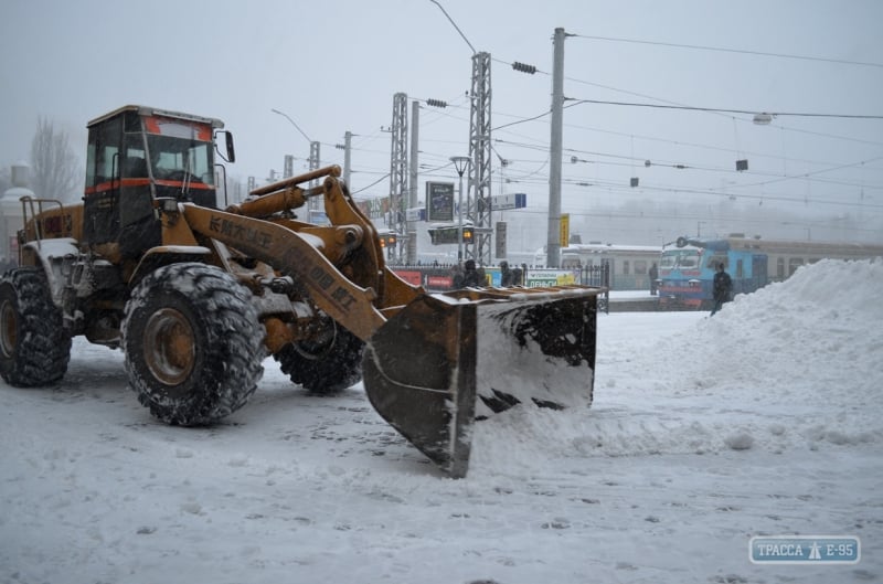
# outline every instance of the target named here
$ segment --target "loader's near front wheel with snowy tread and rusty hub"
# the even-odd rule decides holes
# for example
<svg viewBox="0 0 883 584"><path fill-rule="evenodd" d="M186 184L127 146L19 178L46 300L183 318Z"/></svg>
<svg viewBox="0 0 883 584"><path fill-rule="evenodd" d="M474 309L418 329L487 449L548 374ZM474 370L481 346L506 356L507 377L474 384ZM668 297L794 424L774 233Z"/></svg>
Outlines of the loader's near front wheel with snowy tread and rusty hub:
<svg viewBox="0 0 883 584"><path fill-rule="evenodd" d="M245 405L264 373L263 340L251 291L199 263L146 276L123 320L126 371L138 401L181 426L212 424Z"/></svg>

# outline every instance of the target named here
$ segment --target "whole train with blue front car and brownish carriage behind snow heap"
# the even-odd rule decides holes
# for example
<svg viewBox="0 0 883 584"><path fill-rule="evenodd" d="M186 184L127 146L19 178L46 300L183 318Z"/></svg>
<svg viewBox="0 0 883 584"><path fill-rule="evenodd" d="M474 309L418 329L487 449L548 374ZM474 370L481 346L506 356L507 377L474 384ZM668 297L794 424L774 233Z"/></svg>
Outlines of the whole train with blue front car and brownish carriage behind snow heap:
<svg viewBox="0 0 883 584"><path fill-rule="evenodd" d="M708 309L715 266L733 280L733 294L781 282L822 258L883 257L883 245L763 240L732 234L724 238L678 237L666 244L659 263L660 308Z"/></svg>

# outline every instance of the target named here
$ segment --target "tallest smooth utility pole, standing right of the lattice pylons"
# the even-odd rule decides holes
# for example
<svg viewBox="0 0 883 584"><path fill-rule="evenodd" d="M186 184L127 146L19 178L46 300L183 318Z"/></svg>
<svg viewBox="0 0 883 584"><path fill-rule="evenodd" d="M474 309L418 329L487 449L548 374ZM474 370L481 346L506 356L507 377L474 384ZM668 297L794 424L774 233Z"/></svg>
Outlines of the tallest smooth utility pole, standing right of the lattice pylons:
<svg viewBox="0 0 883 584"><path fill-rule="evenodd" d="M546 265L561 266L561 159L564 119L564 29L555 29L552 64L552 136L549 142L549 234Z"/></svg>

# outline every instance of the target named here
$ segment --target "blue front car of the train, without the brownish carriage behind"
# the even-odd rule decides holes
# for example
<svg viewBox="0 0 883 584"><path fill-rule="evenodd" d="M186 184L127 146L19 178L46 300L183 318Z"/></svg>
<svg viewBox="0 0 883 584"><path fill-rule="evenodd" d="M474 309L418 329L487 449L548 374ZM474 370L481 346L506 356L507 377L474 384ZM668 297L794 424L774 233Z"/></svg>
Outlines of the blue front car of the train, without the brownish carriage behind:
<svg viewBox="0 0 883 584"><path fill-rule="evenodd" d="M659 307L709 309L715 267L733 280L733 294L752 293L766 286L767 255L758 249L738 248L730 240L678 237L662 248L659 262Z"/></svg>

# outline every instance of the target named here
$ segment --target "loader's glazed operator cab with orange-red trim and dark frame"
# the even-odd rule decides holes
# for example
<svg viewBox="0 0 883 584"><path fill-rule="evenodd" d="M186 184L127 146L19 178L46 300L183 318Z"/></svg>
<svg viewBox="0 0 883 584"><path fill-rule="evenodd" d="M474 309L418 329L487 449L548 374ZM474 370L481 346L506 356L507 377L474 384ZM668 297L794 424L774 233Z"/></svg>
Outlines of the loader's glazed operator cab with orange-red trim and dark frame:
<svg viewBox="0 0 883 584"><path fill-rule="evenodd" d="M142 106L91 121L85 243L115 261L135 258L162 243L157 198L217 206L213 132L222 127L217 119Z"/></svg>

